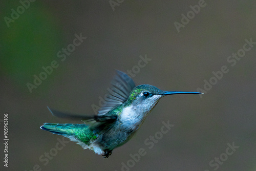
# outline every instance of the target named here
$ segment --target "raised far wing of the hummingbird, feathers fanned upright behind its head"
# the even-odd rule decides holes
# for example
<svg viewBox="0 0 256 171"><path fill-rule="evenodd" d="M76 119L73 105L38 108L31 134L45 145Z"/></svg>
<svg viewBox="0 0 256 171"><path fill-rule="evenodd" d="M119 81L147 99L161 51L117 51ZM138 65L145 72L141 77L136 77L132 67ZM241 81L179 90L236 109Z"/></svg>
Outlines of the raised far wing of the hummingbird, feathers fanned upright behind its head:
<svg viewBox="0 0 256 171"><path fill-rule="evenodd" d="M112 86L109 90L110 93L106 96L105 103L102 108L99 109L98 115L104 115L115 106L125 102L130 92L135 88L135 83L131 77L121 71L116 71L117 75L111 81Z"/></svg>

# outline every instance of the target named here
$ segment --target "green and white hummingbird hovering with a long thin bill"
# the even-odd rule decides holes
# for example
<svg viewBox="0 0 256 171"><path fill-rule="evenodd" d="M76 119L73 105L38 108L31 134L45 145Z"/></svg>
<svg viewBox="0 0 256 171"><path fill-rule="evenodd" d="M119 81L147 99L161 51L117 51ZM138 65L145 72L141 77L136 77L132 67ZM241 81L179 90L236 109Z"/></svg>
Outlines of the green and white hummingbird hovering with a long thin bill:
<svg viewBox="0 0 256 171"><path fill-rule="evenodd" d="M97 115L87 116L48 109L53 116L82 120L81 124L44 123L40 129L62 135L108 158L113 149L125 144L140 129L148 113L160 98L174 94L203 94L200 92L163 91L155 86L135 86L131 77L118 71L111 82L111 91Z"/></svg>

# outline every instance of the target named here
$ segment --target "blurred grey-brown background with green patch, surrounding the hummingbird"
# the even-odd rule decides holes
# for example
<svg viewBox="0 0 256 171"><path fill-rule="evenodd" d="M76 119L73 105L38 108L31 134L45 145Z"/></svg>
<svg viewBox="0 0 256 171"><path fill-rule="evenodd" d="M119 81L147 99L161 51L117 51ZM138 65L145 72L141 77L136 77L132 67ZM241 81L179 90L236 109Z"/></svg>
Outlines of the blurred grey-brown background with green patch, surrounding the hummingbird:
<svg viewBox="0 0 256 171"><path fill-rule="evenodd" d="M114 11L109 1L35 1L10 27L4 17L11 18L11 9L21 4L1 1L0 119L9 114L8 169L32 170L37 164L41 170L121 170L130 154L144 148L146 155L130 170L214 170L209 162L234 142L240 147L218 170L255 171L256 46L233 67L227 58L243 48L246 38L256 41L256 2L205 3L178 33L174 22L181 23L181 14L198 1L123 1ZM80 33L87 39L61 61L57 52ZM99 96L107 93L115 69L131 70L140 55L152 60L133 78L136 84L166 91L203 89L212 71L227 66L229 72L203 98L161 99L135 137L114 149L110 158L70 142L44 165L39 157L62 137L40 130L40 125L81 123L55 118L47 106L93 115L91 105L98 105ZM53 60L58 68L30 93L26 84ZM148 149L145 139L168 120L175 126ZM3 144L3 138L0 141ZM0 150L3 160L2 145Z"/></svg>

